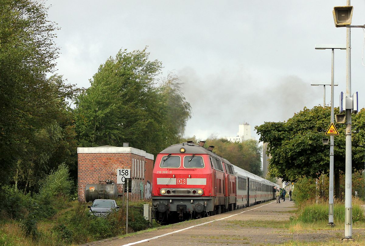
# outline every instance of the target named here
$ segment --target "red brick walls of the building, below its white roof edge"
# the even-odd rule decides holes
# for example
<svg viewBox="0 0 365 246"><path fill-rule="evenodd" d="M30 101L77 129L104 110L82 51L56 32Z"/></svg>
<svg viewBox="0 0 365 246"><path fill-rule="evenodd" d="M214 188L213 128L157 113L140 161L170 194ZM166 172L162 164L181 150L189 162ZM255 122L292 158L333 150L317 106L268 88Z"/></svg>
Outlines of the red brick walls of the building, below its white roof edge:
<svg viewBox="0 0 365 246"><path fill-rule="evenodd" d="M146 180L152 181L153 160L134 153L78 153L77 195L79 202L85 202L85 187L89 183L105 182L111 179L116 183L117 169L131 169L132 159L145 161L145 178L133 178L134 189L129 194L130 200L140 200L140 183L143 184L145 197ZM131 174L131 177L133 174ZM152 183L152 182L151 182ZM117 184L118 193L123 193L122 184ZM126 197L126 193L124 193ZM121 195L120 195L121 196Z"/></svg>

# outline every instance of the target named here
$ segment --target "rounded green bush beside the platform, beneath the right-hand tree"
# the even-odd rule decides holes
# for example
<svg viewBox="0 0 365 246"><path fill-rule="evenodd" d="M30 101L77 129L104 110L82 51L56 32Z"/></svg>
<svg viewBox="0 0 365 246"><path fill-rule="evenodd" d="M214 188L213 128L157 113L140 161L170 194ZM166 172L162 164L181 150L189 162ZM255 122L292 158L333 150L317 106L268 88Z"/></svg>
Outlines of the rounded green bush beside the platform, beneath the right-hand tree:
<svg viewBox="0 0 365 246"><path fill-rule="evenodd" d="M301 205L303 202L315 198L315 190L315 180L302 177L295 183L292 191L292 199L296 204Z"/></svg>

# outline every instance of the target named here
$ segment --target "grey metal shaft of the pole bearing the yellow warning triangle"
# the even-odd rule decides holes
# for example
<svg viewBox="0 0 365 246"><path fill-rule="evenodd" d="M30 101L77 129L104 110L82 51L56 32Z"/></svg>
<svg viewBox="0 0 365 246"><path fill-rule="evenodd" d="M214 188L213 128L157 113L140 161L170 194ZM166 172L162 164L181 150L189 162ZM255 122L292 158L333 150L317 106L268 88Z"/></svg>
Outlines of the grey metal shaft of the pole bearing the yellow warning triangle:
<svg viewBox="0 0 365 246"><path fill-rule="evenodd" d="M335 50L332 49L332 66L331 66L331 123L334 122L334 105L333 105L333 95L334 95L334 62L335 60ZM334 147L334 136L330 136L330 193L328 195L328 224L333 226L333 147Z"/></svg>

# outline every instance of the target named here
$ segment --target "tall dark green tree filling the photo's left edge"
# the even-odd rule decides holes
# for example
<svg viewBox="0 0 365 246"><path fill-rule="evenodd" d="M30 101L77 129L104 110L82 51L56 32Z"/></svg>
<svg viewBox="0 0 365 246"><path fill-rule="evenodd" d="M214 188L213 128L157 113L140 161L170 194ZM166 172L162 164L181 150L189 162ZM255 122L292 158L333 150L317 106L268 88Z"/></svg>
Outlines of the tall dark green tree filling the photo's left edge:
<svg viewBox="0 0 365 246"><path fill-rule="evenodd" d="M50 170L55 145L65 137L64 123L72 119L67 100L77 92L57 74L47 78L58 48L53 41L57 27L46 18L47 8L38 1L1 0L0 183L26 189ZM58 163L68 157L58 154Z"/></svg>

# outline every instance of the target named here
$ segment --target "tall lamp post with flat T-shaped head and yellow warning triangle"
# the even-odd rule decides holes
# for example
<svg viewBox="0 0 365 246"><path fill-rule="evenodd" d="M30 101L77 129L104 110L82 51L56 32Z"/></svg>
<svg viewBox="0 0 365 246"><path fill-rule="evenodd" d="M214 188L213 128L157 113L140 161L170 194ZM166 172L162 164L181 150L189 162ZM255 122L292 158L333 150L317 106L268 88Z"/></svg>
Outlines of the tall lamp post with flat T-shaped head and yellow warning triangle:
<svg viewBox="0 0 365 246"><path fill-rule="evenodd" d="M334 123L334 109L333 109L333 94L334 94L334 86L337 84L334 83L334 60L335 60L335 49L346 49L346 45L344 44L316 44L315 49L331 49L332 50L332 63L331 63L331 123ZM326 85L323 85L325 87ZM325 97L325 96L324 96ZM323 98L323 101L325 98ZM324 107L324 105L323 105ZM334 173L334 136L330 136L330 189L328 194L328 225L334 226L333 221L333 173Z"/></svg>

